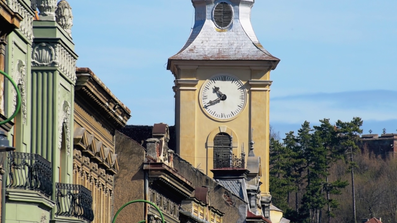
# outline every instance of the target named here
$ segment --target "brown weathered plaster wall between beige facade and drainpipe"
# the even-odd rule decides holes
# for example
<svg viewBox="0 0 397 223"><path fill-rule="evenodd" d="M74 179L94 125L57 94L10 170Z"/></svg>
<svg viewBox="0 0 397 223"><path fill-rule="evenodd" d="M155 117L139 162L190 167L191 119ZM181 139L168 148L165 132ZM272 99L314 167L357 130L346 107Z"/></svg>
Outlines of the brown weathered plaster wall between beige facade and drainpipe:
<svg viewBox="0 0 397 223"><path fill-rule="evenodd" d="M144 199L145 149L140 143L116 131L116 153L119 172L114 178L114 213L131 201ZM118 222L139 222L144 219L144 204L130 204L117 217Z"/></svg>

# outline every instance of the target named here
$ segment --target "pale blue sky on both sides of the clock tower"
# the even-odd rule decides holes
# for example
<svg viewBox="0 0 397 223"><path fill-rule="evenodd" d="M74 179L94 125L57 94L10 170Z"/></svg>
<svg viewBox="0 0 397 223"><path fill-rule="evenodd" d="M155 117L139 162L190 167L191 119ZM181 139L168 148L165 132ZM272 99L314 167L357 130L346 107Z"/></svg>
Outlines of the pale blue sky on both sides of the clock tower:
<svg viewBox="0 0 397 223"><path fill-rule="evenodd" d="M69 0L77 66L89 67L131 109L130 125L174 123L165 64L193 26L190 0ZM362 117L364 133L397 132L397 1L256 0L251 20L281 59L270 124Z"/></svg>

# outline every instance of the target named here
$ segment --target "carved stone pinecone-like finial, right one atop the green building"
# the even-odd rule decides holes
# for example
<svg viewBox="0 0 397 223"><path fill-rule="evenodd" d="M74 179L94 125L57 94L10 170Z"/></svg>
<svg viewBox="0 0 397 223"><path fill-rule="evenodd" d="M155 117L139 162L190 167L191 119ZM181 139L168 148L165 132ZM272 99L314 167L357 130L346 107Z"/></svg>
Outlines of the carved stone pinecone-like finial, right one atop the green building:
<svg viewBox="0 0 397 223"><path fill-rule="evenodd" d="M71 28L73 26L73 15L72 8L69 3L65 0L61 0L58 2L58 8L55 11L56 22L65 32L71 37L72 31Z"/></svg>

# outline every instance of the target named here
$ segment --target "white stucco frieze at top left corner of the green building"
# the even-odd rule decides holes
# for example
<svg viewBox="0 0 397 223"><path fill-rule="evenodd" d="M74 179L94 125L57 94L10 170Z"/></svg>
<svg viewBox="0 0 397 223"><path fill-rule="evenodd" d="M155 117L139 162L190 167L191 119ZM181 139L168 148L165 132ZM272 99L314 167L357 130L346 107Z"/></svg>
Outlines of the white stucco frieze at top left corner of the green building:
<svg viewBox="0 0 397 223"><path fill-rule="evenodd" d="M17 0L8 0L8 6L10 6L12 11L22 15L23 20L21 21L19 31L21 31L29 41L33 42L33 15L31 15L31 13L29 13Z"/></svg>

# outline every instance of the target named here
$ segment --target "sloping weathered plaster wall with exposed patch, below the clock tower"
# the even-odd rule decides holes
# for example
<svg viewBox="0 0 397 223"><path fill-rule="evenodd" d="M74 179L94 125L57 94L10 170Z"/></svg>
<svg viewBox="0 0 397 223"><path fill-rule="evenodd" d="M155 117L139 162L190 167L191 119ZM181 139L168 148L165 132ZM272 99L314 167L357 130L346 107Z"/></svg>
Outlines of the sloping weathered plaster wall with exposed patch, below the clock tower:
<svg viewBox="0 0 397 223"><path fill-rule="evenodd" d="M193 187L208 186L210 205L225 213L223 222L244 222L247 215L247 204L223 186L216 183L204 173L195 169L190 163L175 155L173 158L174 168L178 173L193 183ZM240 209L240 211L239 211ZM241 211L242 210L242 211ZM237 213L239 213L237 215Z"/></svg>

